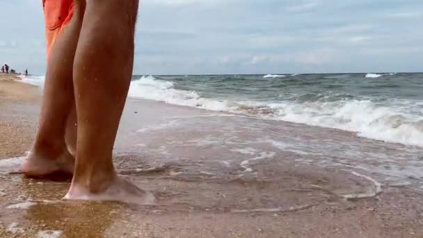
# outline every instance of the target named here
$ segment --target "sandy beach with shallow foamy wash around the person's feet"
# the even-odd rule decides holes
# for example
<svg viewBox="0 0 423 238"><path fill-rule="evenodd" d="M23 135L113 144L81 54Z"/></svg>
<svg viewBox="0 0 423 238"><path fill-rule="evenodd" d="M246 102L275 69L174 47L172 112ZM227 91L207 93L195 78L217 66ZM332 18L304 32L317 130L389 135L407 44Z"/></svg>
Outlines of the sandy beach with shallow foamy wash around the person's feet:
<svg viewBox="0 0 423 238"><path fill-rule="evenodd" d="M115 166L157 205L64 202L69 181L8 174L40 90L0 75L0 92L0 237L423 237L422 148L128 100Z"/></svg>

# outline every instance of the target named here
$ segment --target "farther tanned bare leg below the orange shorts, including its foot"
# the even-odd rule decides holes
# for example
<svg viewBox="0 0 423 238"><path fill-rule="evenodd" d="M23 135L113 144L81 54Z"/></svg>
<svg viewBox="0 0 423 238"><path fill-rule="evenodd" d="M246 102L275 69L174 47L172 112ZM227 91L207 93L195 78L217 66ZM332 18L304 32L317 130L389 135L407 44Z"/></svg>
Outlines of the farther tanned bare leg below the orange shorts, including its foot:
<svg viewBox="0 0 423 238"><path fill-rule="evenodd" d="M67 117L74 104L72 65L77 49L85 3L75 1L74 15L51 48L47 63L40 128L31 153L22 165L26 176L39 177L56 172L73 173L74 159L65 144Z"/></svg>

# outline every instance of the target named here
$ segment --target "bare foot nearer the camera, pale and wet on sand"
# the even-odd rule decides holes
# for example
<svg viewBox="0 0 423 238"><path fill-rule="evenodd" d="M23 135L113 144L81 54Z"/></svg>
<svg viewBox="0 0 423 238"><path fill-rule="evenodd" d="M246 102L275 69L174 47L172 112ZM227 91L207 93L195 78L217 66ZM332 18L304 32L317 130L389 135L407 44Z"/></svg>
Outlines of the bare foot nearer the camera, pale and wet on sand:
<svg viewBox="0 0 423 238"><path fill-rule="evenodd" d="M152 205L155 202L154 195L134 184L115 177L109 188L101 193L92 193L85 187L72 183L65 198L66 200L89 200L89 201L115 201L136 205Z"/></svg>

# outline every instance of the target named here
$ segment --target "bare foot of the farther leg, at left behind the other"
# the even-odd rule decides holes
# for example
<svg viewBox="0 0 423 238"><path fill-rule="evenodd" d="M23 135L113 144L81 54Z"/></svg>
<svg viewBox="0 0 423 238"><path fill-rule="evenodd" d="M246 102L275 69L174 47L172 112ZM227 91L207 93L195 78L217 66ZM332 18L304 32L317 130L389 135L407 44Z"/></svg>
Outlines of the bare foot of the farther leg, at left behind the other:
<svg viewBox="0 0 423 238"><path fill-rule="evenodd" d="M57 159L51 160L29 152L22 164L22 173L26 177L48 177L52 174L72 175L74 172L74 157L65 150Z"/></svg>

